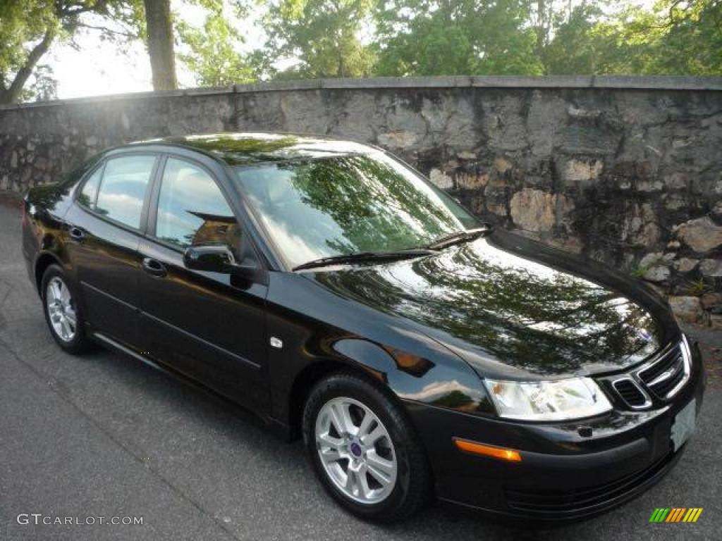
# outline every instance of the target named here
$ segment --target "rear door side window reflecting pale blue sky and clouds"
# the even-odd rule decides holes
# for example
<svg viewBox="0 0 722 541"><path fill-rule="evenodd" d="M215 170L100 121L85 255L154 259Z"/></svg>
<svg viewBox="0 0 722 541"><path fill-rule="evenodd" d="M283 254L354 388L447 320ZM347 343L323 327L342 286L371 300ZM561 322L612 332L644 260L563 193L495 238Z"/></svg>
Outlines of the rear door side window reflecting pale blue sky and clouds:
<svg viewBox="0 0 722 541"><path fill-rule="evenodd" d="M136 229L140 227L143 199L153 172L155 156L109 159L97 194L95 211Z"/></svg>

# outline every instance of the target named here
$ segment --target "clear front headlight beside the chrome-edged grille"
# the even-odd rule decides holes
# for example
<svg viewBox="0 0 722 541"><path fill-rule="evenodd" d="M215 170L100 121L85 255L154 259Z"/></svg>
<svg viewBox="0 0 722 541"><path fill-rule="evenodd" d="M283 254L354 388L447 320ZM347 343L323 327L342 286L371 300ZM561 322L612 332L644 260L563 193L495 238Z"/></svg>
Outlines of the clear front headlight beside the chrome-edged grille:
<svg viewBox="0 0 722 541"><path fill-rule="evenodd" d="M612 409L599 386L588 377L554 382L509 382L484 379L501 417L526 421L565 421Z"/></svg>

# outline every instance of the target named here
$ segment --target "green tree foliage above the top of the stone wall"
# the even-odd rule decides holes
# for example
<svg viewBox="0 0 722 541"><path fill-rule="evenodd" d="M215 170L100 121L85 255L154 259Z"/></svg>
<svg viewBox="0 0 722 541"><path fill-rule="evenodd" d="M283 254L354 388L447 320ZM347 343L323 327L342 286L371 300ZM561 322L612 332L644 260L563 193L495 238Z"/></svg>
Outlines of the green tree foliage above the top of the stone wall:
<svg viewBox="0 0 722 541"><path fill-rule="evenodd" d="M100 32L119 48L129 40L147 42L143 4L0 0L0 103L54 97L53 74L40 60L53 43L71 41L79 31ZM722 0L174 5L202 10L198 21L176 16L174 22L178 60L202 86L371 75L722 75ZM244 30L254 21L267 39L244 50Z"/></svg>

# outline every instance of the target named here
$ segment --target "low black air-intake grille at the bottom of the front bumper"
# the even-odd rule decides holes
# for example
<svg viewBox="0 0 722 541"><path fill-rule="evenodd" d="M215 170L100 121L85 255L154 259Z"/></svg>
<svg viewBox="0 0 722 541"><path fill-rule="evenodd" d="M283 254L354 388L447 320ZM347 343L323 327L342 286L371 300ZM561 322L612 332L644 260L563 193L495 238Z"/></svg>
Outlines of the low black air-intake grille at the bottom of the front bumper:
<svg viewBox="0 0 722 541"><path fill-rule="evenodd" d="M635 488L652 481L669 463L673 454L653 462L644 470L625 475L612 483L597 485L576 491L522 492L507 489L506 499L512 509L518 509L536 516L554 514L580 514L593 511L596 507L619 501L633 493Z"/></svg>

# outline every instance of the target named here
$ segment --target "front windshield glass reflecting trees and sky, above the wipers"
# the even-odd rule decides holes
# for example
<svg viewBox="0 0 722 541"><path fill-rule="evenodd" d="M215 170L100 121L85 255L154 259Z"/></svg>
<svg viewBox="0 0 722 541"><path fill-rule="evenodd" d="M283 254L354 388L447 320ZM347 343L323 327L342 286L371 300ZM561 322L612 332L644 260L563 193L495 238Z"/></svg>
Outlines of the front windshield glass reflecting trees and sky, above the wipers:
<svg viewBox="0 0 722 541"><path fill-rule="evenodd" d="M452 198L382 152L236 167L286 263L428 245L479 226Z"/></svg>

